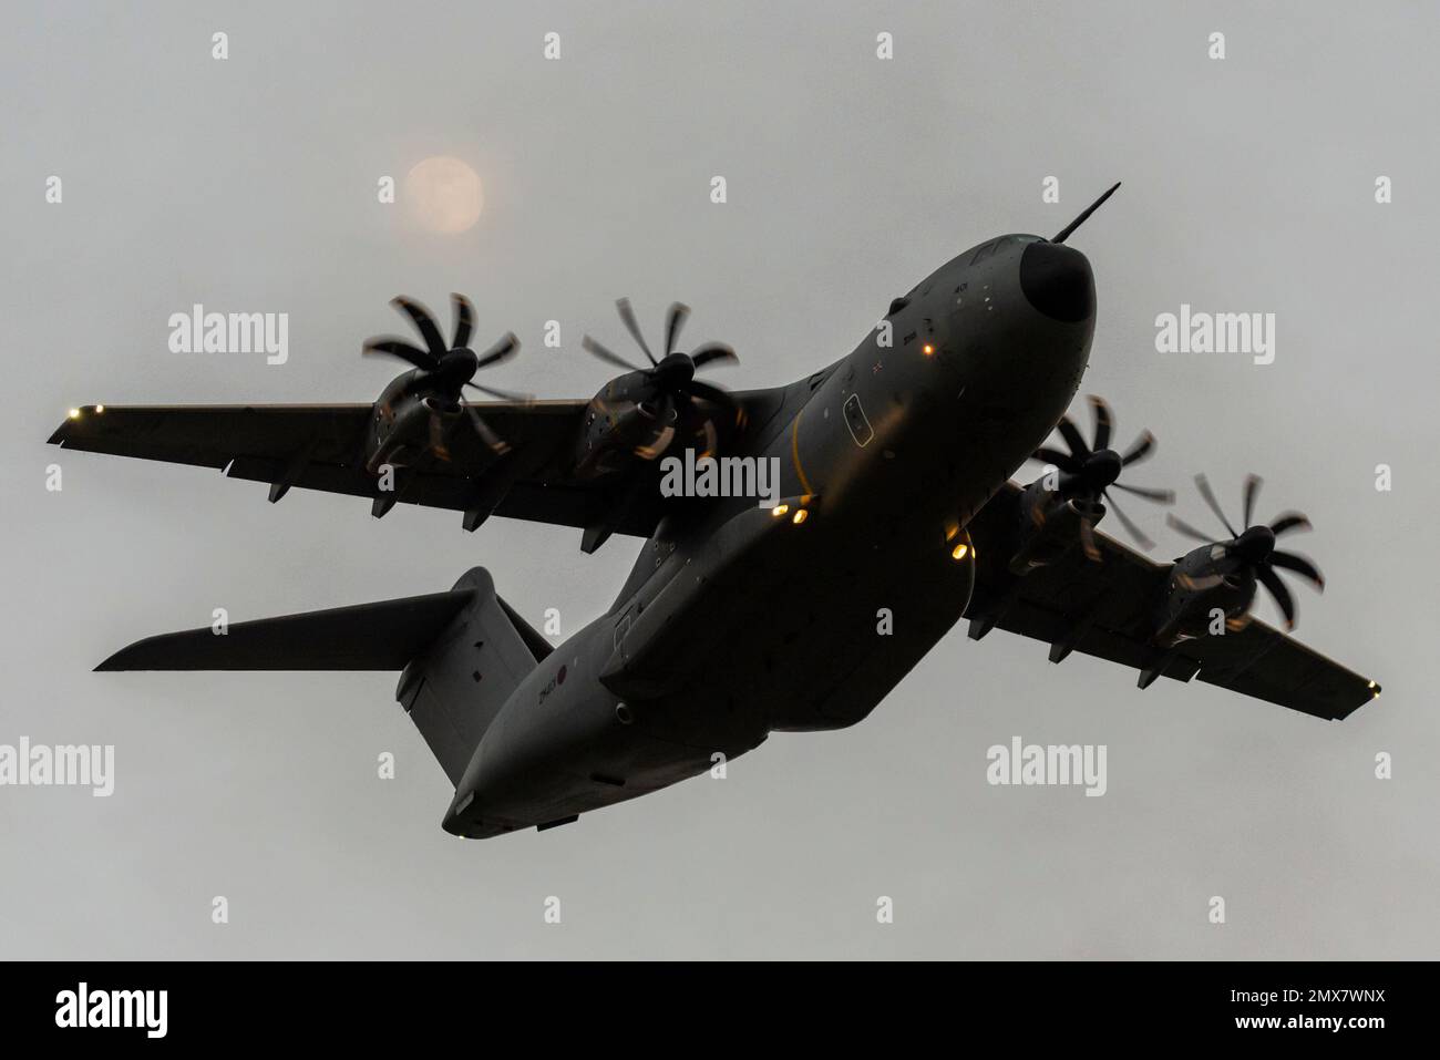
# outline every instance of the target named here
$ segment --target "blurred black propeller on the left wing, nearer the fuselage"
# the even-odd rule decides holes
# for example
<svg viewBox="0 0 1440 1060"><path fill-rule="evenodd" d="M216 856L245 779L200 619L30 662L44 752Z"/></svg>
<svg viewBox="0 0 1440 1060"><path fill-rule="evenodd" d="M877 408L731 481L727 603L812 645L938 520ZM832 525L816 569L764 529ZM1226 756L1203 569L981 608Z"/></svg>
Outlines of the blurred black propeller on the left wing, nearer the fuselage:
<svg viewBox="0 0 1440 1060"><path fill-rule="evenodd" d="M703 426L710 436L710 448L714 448L714 426L710 418L704 416L696 406L696 399L724 406L736 418L740 416L740 406L736 405L734 398L727 390L696 379L696 372L706 364L739 364L739 354L724 343L706 343L690 353L678 351L675 343L680 340L680 331L690 317L690 307L683 302L672 302L665 314L665 351L657 359L645 341L639 321L635 320L635 310L631 308L629 298L616 301L615 308L621 314L621 323L625 324L625 330L631 333L635 344L639 346L649 361L649 367L626 360L590 336L585 336L582 346L606 364L625 372L642 373L651 385L651 392L641 402L641 408L652 413L665 428L671 428L677 421L683 421L687 429ZM645 449L641 455L654 455L655 452L658 452L658 448L654 451Z"/></svg>

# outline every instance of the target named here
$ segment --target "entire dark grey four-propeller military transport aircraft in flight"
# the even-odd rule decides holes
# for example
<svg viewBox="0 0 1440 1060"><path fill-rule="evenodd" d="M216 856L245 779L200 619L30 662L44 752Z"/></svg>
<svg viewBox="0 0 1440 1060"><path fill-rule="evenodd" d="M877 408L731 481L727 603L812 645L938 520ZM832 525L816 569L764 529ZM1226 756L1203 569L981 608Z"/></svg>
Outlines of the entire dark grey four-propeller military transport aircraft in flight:
<svg viewBox="0 0 1440 1060"><path fill-rule="evenodd" d="M505 336L469 349L474 313L455 297L449 341L418 302L396 300L423 346L376 338L370 354L412 369L373 405L85 406L50 438L66 449L223 468L301 487L648 539L611 609L552 645L497 595L482 567L448 592L153 637L99 670L397 670L396 699L455 795L444 828L490 837L549 828L696 776L775 730L840 729L865 717L959 618L1158 677L1231 688L1344 719L1378 686L1248 618L1256 586L1292 624L1276 569L1316 586L1308 560L1276 549L1303 516L1251 524L1174 563L1153 563L1094 530L1112 488L1146 457L1123 455L1113 416L1092 399L1087 442L1064 416L1094 331L1094 279L1066 245L1112 187L1051 239L986 239L890 302L847 356L808 379L729 393L696 377L733 361L726 346L677 350L687 310L671 307L664 351L629 304L634 364L590 400L528 400L472 377L514 354ZM888 340L888 341L887 341ZM464 390L498 402L471 405ZM1066 449L1040 448L1057 429ZM778 458L782 487L753 497L672 497L664 452ZM1027 459L1035 482L1009 481ZM888 611L886 611L888 609ZM888 615L888 621L881 621ZM1218 619L1218 621L1217 621Z"/></svg>

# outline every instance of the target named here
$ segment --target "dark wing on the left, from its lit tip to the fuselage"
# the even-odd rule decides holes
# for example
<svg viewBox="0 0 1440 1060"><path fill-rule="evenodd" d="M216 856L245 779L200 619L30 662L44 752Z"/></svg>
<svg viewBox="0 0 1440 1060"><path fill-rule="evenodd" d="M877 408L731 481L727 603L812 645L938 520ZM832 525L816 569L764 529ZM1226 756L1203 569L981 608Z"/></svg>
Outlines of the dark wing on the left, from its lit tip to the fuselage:
<svg viewBox="0 0 1440 1060"><path fill-rule="evenodd" d="M485 422L511 445L504 458L461 422L446 438L449 459L400 472L399 501L454 511L590 527L613 510L613 491L564 475L585 400L485 402ZM50 444L223 470L229 478L285 490L374 498L363 467L373 405L92 405L78 409ZM649 495L658 498L658 490ZM497 500L498 497L498 500ZM615 533L647 537L658 506L628 506ZM468 524L468 523L467 523ZM478 524L478 523L477 523Z"/></svg>

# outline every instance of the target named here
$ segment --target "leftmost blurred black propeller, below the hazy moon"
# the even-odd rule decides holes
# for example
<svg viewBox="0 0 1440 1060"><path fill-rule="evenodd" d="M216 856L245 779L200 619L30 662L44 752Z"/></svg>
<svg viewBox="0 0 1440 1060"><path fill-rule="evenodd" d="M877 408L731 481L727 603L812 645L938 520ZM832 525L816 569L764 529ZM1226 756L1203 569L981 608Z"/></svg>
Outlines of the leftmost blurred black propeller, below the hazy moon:
<svg viewBox="0 0 1440 1060"><path fill-rule="evenodd" d="M390 300L390 305L415 324L416 331L420 333L420 338L425 341L425 347L418 347L393 336L380 336L367 340L361 353L397 357L418 367L422 374L410 380L406 386L406 393L428 392L446 405L464 408L481 441L495 452L505 452L510 446L490 429L474 406L461 403L461 395L465 387L469 387L500 400L533 400L531 395L500 390L474 382L475 373L481 369L501 364L514 357L520 350L520 340L516 338L513 331L507 331L484 353L475 353L469 349L469 337L475 328L475 308L462 294L451 295L451 305L455 313L455 333L449 344L445 343L445 337L435 324L435 317L420 302L405 295L397 295Z"/></svg>

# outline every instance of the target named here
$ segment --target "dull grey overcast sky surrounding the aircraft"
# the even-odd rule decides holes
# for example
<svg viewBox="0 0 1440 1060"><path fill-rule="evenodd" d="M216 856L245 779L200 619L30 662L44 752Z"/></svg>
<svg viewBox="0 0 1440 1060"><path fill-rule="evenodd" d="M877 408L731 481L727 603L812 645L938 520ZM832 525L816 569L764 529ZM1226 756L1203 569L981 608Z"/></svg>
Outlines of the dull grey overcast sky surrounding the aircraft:
<svg viewBox="0 0 1440 1060"><path fill-rule="evenodd" d="M108 799L0 788L7 956L1436 956L1433 4L20 3L6 22L0 743L117 756ZM438 154L484 183L462 235L419 228L403 187L376 202ZM606 369L579 340L628 349L619 295L652 328L687 301L690 338L740 351L729 385L780 385L958 251L1050 235L1115 180L1071 241L1099 292L1081 393L1113 403L1120 442L1155 429L1135 481L1176 487L1191 521L1212 521L1201 470L1233 511L1254 471L1260 516L1310 516L1297 544L1329 585L1296 590L1299 635L1385 686L1345 723L1198 683L1140 693L960 626L860 726L465 843L439 828L451 789L395 675L91 673L216 606L433 592L474 565L569 634L639 546L269 506L212 471L43 445L71 405L367 402L390 377L359 356L396 327L386 300L452 289L481 336L526 344L500 386L593 393ZM288 313L288 363L170 353L194 302ZM1274 313L1274 363L1156 353L1182 302ZM1161 556L1187 547L1128 511ZM986 785L1012 736L1107 745L1107 794Z"/></svg>

